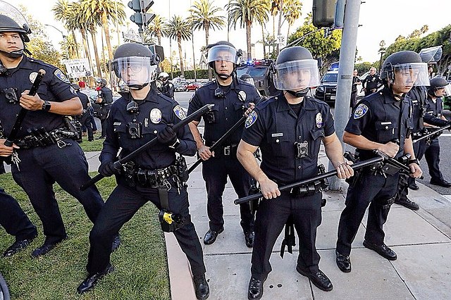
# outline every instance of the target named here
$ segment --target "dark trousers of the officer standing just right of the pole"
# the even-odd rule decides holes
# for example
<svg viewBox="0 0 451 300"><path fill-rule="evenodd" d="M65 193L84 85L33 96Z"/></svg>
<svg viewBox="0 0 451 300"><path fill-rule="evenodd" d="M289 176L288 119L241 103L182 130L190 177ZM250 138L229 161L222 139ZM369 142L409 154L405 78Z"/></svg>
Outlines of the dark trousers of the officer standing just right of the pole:
<svg viewBox="0 0 451 300"><path fill-rule="evenodd" d="M368 206L365 239L374 244L383 244L383 225L390 211L390 200L397 191L399 173L384 177L364 170L361 176L358 182L347 190L346 207L338 223L337 251L345 256L351 253L351 244Z"/></svg>

